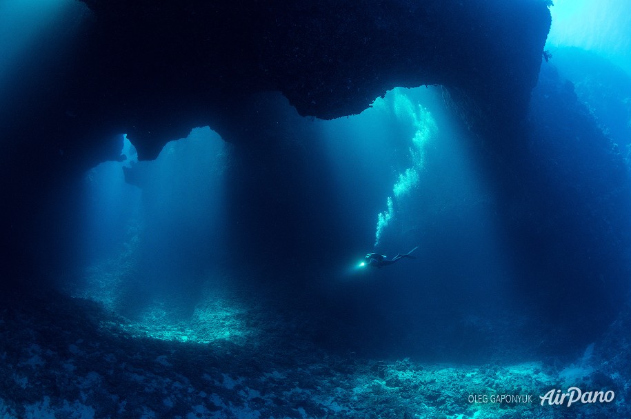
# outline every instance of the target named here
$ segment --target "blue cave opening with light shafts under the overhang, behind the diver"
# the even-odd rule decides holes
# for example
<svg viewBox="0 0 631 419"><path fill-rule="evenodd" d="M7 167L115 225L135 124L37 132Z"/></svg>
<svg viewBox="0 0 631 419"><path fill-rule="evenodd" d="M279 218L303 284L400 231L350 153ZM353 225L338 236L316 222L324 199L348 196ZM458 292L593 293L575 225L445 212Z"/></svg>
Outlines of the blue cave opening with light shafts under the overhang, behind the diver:
<svg viewBox="0 0 631 419"><path fill-rule="evenodd" d="M269 100L281 109L281 127L258 151L204 127L168 143L155 161L137 161L124 136L126 159L84 179L77 248L89 257L81 279L67 284L70 295L132 318L161 312L164 320L171 311L182 320L204 303L209 283L225 290L254 281L248 286L277 289L281 299L316 296L319 304L302 308L314 317L332 319L345 307L348 323L320 325L321 342L371 325L407 335L404 351L419 349L412 336L454 321L474 327L472 312L490 318L508 304L492 192L439 88L393 90L333 121L303 119L285 99ZM396 209L379 249L394 255L419 245L417 260L362 269L349 281L344 266L374 249L388 196Z"/></svg>

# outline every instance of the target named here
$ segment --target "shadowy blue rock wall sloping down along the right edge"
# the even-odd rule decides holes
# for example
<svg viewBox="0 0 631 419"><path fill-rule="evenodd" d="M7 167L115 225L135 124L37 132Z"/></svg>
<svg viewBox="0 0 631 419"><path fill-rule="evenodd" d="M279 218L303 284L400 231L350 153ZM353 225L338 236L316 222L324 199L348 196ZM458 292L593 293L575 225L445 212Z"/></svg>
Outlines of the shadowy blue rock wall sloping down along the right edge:
<svg viewBox="0 0 631 419"><path fill-rule="evenodd" d="M623 154L574 85L544 64L532 90L528 141L503 178L503 231L524 303L587 345L628 298L631 191ZM503 177L502 177L503 176ZM560 302L563 303L560 303Z"/></svg>

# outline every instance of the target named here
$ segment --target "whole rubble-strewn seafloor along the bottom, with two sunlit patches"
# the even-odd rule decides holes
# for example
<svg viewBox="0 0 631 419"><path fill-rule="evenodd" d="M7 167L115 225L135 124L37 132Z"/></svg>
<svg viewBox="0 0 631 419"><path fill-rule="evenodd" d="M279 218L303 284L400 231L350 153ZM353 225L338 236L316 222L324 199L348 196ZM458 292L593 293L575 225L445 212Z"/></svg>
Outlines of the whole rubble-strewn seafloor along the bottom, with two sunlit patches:
<svg viewBox="0 0 631 419"><path fill-rule="evenodd" d="M601 385L603 371L589 362L428 364L333 353L301 337L310 320L272 313L260 296L244 305L234 292L202 294L188 313L155 302L134 320L103 301L5 294L0 419L628 417L621 395L541 405L550 389ZM498 402L503 394L521 398Z"/></svg>

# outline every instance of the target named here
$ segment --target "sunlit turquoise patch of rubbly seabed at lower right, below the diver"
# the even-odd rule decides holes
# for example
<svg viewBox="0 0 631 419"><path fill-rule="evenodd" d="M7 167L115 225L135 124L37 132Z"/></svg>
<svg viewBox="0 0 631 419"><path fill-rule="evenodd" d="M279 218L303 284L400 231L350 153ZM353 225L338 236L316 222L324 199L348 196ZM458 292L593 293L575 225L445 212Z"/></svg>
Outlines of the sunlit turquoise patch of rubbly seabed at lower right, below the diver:
<svg viewBox="0 0 631 419"><path fill-rule="evenodd" d="M410 418L563 417L561 410L550 411L541 405L540 396L559 385L557 374L542 362L432 365L405 358L372 361L368 368L355 374L352 396L339 395L338 400L349 400L339 402L342 409L354 411L365 403L396 406L405 412L403 417Z"/></svg>

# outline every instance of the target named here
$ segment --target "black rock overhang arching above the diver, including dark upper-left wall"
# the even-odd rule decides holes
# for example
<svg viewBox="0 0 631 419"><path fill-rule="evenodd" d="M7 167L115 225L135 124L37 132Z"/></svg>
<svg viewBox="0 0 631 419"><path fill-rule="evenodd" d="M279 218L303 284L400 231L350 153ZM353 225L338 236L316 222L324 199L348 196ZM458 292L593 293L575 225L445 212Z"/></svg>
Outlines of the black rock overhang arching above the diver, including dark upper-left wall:
<svg viewBox="0 0 631 419"><path fill-rule="evenodd" d="M278 90L299 114L330 119L395 86L443 84L470 127L499 138L527 110L550 27L536 0L83 3L90 10L74 3L55 37L70 46L33 54L0 109L12 249L3 268L28 265L19 247L42 240L34 221L48 214L35 208L46 191L117 159L121 133L140 159L194 126L257 141L257 92Z"/></svg>

